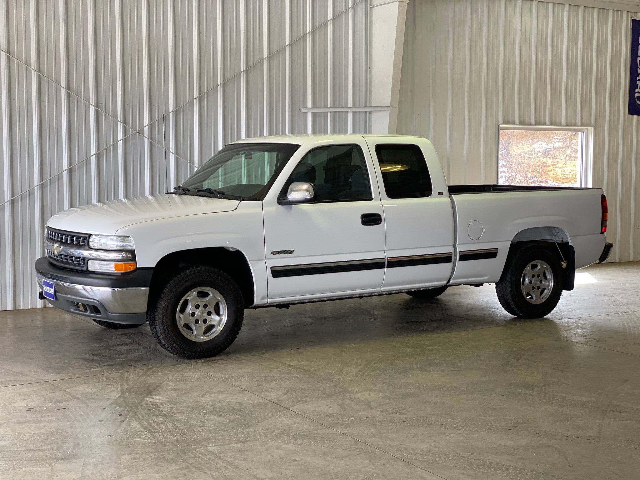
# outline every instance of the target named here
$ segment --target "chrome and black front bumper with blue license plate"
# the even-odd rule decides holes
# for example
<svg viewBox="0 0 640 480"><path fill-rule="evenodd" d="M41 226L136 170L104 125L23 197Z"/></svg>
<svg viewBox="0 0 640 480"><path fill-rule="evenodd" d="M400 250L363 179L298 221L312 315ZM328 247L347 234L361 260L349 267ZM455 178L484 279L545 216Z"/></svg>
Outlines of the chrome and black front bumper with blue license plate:
<svg viewBox="0 0 640 480"><path fill-rule="evenodd" d="M38 288L42 280L54 284L56 300L47 300L64 312L114 323L138 324L147 319L152 269L122 276L70 271L53 266L47 257L35 264Z"/></svg>

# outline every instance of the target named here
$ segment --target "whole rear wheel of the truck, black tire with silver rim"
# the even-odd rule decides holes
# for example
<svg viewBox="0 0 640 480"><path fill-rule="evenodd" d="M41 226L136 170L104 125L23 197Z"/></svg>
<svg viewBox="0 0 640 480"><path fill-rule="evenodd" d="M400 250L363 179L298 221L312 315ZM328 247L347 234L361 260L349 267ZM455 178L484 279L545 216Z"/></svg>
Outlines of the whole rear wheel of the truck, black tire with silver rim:
<svg viewBox="0 0 640 480"><path fill-rule="evenodd" d="M562 295L561 261L552 248L522 244L509 252L500 281L495 284L500 305L515 317L550 314Z"/></svg>

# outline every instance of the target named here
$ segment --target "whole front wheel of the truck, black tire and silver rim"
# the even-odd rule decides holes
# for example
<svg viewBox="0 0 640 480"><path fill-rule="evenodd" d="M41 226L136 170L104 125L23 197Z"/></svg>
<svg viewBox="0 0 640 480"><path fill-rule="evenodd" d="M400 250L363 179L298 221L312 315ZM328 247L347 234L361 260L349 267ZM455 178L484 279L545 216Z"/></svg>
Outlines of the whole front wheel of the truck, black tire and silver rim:
<svg viewBox="0 0 640 480"><path fill-rule="evenodd" d="M243 319L244 303L236 283L207 266L174 276L148 314L156 341L182 358L207 358L225 351L236 340Z"/></svg>

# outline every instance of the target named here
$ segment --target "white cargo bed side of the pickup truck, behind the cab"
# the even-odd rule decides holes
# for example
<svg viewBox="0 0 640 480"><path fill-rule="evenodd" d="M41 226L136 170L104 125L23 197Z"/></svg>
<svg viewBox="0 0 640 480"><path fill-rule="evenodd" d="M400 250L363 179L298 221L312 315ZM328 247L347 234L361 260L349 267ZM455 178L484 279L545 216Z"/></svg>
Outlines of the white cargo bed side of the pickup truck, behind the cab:
<svg viewBox="0 0 640 480"><path fill-rule="evenodd" d="M565 241L575 250L575 266L596 262L604 248L600 234L599 188L513 185L449 186L455 244L461 257L451 282L497 282L511 242L529 237ZM465 254L484 255L467 260Z"/></svg>

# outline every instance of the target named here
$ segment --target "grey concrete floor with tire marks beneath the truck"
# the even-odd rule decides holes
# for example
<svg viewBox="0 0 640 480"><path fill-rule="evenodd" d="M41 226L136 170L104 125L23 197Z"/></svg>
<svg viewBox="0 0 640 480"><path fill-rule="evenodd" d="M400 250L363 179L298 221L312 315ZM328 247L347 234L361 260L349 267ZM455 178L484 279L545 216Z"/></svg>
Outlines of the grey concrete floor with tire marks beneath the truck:
<svg viewBox="0 0 640 480"><path fill-rule="evenodd" d="M640 262L582 273L540 320L489 285L248 310L208 360L0 312L0 478L640 479Z"/></svg>

